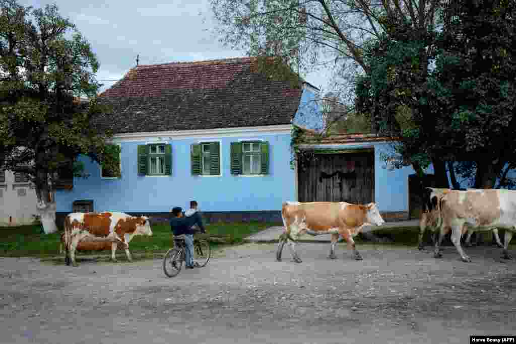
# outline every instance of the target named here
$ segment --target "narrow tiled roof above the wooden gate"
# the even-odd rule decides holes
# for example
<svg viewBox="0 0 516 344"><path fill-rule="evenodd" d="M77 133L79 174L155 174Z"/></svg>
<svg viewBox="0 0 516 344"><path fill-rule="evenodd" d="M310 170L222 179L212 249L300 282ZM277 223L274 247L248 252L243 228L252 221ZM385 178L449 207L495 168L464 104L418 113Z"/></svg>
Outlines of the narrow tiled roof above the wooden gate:
<svg viewBox="0 0 516 344"><path fill-rule="evenodd" d="M318 134L315 130L298 126L302 132L300 144L345 144L358 142L392 141L397 138L379 136L377 134Z"/></svg>

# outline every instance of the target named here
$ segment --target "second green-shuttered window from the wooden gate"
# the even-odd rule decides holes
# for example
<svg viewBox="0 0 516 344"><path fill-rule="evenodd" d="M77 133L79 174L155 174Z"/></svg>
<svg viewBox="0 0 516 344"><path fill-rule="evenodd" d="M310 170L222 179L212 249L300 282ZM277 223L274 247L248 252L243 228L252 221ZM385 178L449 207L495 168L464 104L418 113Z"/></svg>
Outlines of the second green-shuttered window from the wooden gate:
<svg viewBox="0 0 516 344"><path fill-rule="evenodd" d="M220 143L200 142L190 148L192 175L220 175Z"/></svg>

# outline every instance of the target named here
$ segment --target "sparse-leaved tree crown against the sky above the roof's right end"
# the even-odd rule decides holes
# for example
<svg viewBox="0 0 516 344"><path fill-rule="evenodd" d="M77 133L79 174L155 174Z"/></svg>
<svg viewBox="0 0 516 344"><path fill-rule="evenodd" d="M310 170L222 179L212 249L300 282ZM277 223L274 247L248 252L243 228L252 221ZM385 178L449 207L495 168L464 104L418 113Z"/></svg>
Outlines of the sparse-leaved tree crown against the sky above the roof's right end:
<svg viewBox="0 0 516 344"><path fill-rule="evenodd" d="M389 34L386 15L415 31L434 25L441 0L209 0L222 43L249 55L281 56L299 72L321 65L369 74L364 44ZM421 63L426 51L418 52ZM330 66L331 63L331 66ZM352 105L352 104L348 104ZM375 121L373 121L375 122ZM372 131L378 130L373 125Z"/></svg>

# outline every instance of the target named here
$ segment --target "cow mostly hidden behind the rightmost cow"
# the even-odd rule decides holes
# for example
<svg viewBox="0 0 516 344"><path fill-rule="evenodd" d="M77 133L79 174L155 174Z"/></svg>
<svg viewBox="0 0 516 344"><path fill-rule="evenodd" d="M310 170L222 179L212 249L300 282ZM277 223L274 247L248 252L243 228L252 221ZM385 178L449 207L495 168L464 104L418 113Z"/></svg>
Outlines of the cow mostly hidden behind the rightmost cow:
<svg viewBox="0 0 516 344"><path fill-rule="evenodd" d="M468 189L468 190L478 190L478 189ZM420 218L420 234L419 234L419 243L418 243L418 249L423 250L425 248L425 244L423 243L423 235L425 234L425 231L427 228L429 228L432 231L432 242L435 245L437 243L437 240L434 238L434 236L438 235L441 228L441 214L439 209L439 200L441 200L443 194L448 193L450 191L454 192L465 192L467 190L451 190L451 189L440 189L440 188L425 188L425 192L423 195L423 211L421 212L421 218ZM466 224L467 226L467 224ZM471 247L471 235L476 232L475 228L467 227L465 228L467 230L467 237L464 242L466 247ZM498 236L498 230L496 227L490 228L490 230L493 231L494 238L496 240L496 244L498 247L503 247L500 237ZM451 228L446 227L443 228L444 234L446 235L451 231ZM463 230L464 233L464 230ZM478 241L478 236L476 237L476 240Z"/></svg>

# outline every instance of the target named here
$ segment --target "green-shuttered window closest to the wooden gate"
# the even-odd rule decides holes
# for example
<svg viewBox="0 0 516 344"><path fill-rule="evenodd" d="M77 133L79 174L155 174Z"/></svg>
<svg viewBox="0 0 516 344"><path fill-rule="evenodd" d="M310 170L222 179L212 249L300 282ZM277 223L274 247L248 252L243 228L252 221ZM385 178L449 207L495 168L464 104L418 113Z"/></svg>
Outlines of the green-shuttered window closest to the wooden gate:
<svg viewBox="0 0 516 344"><path fill-rule="evenodd" d="M231 143L231 174L263 175L268 173L268 142L243 141Z"/></svg>

